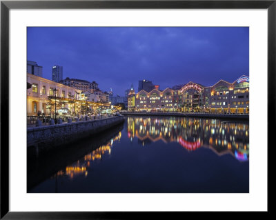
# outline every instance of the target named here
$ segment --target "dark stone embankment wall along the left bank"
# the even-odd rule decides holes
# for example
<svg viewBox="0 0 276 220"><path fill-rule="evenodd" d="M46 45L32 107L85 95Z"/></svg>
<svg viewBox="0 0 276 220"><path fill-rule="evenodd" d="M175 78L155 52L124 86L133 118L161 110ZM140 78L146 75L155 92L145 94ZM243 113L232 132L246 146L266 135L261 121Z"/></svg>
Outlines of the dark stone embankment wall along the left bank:
<svg viewBox="0 0 276 220"><path fill-rule="evenodd" d="M38 152L52 150L57 146L98 134L119 125L123 121L124 116L119 115L90 121L27 128L27 148L34 148L38 154Z"/></svg>

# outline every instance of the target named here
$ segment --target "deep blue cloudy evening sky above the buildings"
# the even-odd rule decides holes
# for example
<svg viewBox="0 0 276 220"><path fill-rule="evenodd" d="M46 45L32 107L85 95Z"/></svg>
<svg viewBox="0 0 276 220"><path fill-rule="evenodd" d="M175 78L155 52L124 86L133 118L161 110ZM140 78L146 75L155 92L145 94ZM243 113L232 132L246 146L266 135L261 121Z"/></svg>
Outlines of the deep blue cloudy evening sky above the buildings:
<svg viewBox="0 0 276 220"><path fill-rule="evenodd" d="M249 28L28 28L27 50L46 79L59 65L121 95L141 79L163 90L249 75Z"/></svg>

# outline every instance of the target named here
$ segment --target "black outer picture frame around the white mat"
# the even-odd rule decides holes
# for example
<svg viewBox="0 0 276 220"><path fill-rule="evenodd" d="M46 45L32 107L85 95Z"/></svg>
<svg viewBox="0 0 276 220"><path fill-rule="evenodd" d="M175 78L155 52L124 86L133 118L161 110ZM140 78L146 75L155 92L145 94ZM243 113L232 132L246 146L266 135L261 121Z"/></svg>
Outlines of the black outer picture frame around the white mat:
<svg viewBox="0 0 276 220"><path fill-rule="evenodd" d="M268 146L272 143L275 125L276 72L276 0L273 1L1 1L1 215L2 219L141 219L154 218L156 212L10 212L9 210L9 10L10 9L81 9L81 8L216 8L268 9ZM272 145L273 146L273 145ZM270 155L270 156L269 156ZM271 159L268 148L268 165ZM269 171L269 166L268 166ZM269 183L268 177L268 183ZM269 188L268 188L269 190ZM269 197L269 193L268 193ZM268 202L268 212L270 203ZM162 212L169 219L183 212ZM197 212L213 217L212 212ZM230 216L233 213L230 213ZM239 212L239 214L242 214ZM246 213L248 214L248 213Z"/></svg>

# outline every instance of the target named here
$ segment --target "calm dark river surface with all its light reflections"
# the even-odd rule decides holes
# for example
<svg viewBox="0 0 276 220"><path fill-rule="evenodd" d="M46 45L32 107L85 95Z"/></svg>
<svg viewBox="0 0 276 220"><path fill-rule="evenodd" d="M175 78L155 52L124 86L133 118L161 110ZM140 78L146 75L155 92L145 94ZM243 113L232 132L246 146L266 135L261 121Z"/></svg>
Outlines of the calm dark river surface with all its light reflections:
<svg viewBox="0 0 276 220"><path fill-rule="evenodd" d="M126 117L28 161L28 192L249 192L249 124Z"/></svg>

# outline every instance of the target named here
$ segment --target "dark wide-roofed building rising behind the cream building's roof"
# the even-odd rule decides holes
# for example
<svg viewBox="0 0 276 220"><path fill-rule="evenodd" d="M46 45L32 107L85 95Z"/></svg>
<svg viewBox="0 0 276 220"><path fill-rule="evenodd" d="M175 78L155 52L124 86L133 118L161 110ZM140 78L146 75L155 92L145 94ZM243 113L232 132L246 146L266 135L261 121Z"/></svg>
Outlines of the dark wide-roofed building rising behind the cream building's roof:
<svg viewBox="0 0 276 220"><path fill-rule="evenodd" d="M69 77L66 77L66 79L63 79L59 82L66 86L71 86L78 90L82 90L84 92L93 92L93 90L98 89L98 83L96 83L95 81L92 81L90 83L89 81L86 81L86 80L70 79Z"/></svg>

